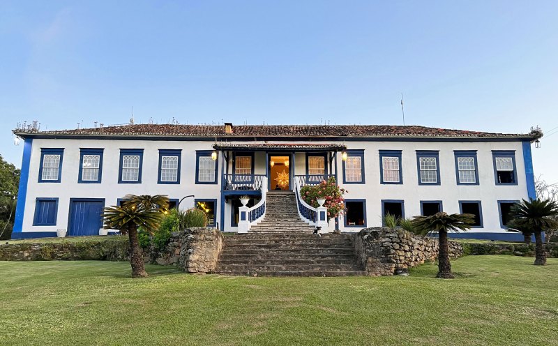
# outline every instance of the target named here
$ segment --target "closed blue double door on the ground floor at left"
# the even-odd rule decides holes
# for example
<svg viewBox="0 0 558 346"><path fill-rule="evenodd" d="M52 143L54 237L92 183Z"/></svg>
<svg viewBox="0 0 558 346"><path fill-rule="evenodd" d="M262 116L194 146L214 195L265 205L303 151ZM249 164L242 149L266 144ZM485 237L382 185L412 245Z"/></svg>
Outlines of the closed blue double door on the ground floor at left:
<svg viewBox="0 0 558 346"><path fill-rule="evenodd" d="M70 220L68 236L99 235L103 227L103 208L105 200L70 200Z"/></svg>

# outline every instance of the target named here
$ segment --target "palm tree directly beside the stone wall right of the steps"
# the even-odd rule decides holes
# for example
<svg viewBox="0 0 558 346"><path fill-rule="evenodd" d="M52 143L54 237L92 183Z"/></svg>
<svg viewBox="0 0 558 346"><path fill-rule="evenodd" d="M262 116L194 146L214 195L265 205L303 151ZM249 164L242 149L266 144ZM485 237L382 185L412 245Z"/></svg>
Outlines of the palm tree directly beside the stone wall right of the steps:
<svg viewBox="0 0 558 346"><path fill-rule="evenodd" d="M438 232L438 274L437 278L452 279L451 264L449 262L448 232L466 231L474 223L472 214L451 214L443 211L432 216L415 216L413 218L413 232L422 236L429 232Z"/></svg>

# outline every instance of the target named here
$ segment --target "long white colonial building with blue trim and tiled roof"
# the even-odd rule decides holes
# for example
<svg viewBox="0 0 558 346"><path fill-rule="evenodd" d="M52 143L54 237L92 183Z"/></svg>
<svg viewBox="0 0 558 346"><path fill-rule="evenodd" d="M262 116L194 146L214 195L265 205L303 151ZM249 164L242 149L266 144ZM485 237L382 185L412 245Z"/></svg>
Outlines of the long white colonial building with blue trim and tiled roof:
<svg viewBox="0 0 558 346"><path fill-rule="evenodd" d="M267 191L292 190L301 219L318 225L319 210L300 200L299 188L334 176L349 191L347 211L325 230L443 210L476 216L467 237L511 239L509 207L535 197L536 133L231 123L14 133L24 153L13 238L98 234L103 207L127 194L168 195L173 206L204 209L220 230L250 232L265 218Z"/></svg>

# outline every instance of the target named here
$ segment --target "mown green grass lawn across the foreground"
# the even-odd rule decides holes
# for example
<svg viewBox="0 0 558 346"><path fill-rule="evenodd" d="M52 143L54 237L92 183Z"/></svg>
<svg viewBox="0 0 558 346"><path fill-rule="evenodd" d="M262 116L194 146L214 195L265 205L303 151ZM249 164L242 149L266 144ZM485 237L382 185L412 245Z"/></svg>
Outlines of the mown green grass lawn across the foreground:
<svg viewBox="0 0 558 346"><path fill-rule="evenodd" d="M558 345L558 260L469 256L455 280L194 276L0 262L0 345Z"/></svg>

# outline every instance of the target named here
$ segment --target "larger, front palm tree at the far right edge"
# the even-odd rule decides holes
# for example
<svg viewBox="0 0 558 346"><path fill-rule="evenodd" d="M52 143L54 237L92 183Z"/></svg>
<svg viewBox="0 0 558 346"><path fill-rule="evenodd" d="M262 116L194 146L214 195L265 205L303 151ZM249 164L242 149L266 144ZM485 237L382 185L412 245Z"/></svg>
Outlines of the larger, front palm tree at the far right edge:
<svg viewBox="0 0 558 346"><path fill-rule="evenodd" d="M551 200L521 200L511 209L511 216L516 219L516 223L522 223L531 227L535 234L535 265L544 266L546 264L546 250L543 243L543 232L558 227L558 221L554 218L558 216L558 204Z"/></svg>

